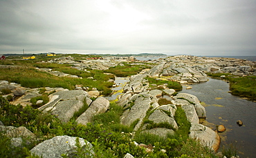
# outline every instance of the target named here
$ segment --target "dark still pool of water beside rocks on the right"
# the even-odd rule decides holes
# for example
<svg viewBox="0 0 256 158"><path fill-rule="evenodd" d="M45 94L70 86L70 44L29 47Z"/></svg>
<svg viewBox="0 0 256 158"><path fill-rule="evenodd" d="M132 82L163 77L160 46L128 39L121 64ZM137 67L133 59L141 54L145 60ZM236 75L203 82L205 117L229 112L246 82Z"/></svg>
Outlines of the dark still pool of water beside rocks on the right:
<svg viewBox="0 0 256 158"><path fill-rule="evenodd" d="M219 133L221 146L233 144L239 157L256 157L256 103L231 95L229 84L219 79L209 79L191 87L190 90L183 87L180 92L195 95L202 101L207 115L205 126L213 130L220 124L226 127L226 132ZM237 120L244 125L237 126Z"/></svg>

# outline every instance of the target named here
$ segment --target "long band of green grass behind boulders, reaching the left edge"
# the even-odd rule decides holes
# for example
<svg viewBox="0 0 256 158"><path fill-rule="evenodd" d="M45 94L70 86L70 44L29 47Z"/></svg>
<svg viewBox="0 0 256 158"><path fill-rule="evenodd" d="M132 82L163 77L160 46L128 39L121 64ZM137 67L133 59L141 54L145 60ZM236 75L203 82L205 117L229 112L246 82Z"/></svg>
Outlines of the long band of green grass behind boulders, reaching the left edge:
<svg viewBox="0 0 256 158"><path fill-rule="evenodd" d="M67 88L68 90L74 90L75 85L80 84L82 86L88 86L89 88L97 88L102 91L102 95L110 95L112 92L110 88L113 85L113 83L106 81L112 79L113 76L104 75L103 72L96 76L99 80L56 77L46 72L41 72L32 66L1 68L0 73L0 80L20 83L21 86L28 88L62 87Z"/></svg>

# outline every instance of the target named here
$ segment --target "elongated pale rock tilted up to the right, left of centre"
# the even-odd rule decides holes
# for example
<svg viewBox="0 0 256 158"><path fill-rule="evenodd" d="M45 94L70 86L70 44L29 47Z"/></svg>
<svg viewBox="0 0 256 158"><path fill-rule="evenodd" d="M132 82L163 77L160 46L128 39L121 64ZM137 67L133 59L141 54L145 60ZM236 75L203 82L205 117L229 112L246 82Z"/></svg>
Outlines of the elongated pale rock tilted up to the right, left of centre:
<svg viewBox="0 0 256 158"><path fill-rule="evenodd" d="M98 97L91 103L91 106L76 119L78 124L84 124L92 121L94 115L104 113L109 109L109 100L104 97Z"/></svg>

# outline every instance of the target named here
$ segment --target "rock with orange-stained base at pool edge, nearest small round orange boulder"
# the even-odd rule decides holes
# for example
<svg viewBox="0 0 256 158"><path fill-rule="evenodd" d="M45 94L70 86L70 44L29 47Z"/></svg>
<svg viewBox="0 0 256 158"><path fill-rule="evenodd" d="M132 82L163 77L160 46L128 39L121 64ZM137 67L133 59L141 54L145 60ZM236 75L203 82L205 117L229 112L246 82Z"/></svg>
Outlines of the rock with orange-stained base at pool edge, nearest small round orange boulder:
<svg viewBox="0 0 256 158"><path fill-rule="evenodd" d="M203 146L208 146L215 152L219 149L221 140L218 133L202 124L192 123L189 136L192 139L199 139Z"/></svg>

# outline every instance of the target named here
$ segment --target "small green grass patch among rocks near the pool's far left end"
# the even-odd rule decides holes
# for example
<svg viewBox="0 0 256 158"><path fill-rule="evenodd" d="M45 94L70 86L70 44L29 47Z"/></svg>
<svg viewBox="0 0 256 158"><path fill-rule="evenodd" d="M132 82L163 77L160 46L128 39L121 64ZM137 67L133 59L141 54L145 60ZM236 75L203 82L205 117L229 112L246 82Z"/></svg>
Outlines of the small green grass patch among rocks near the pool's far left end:
<svg viewBox="0 0 256 158"><path fill-rule="evenodd" d="M174 89L176 91L182 90L182 86L179 82L176 81L165 81L165 80L161 80L161 79L155 79L152 77L146 77L147 81L149 81L149 87L152 89L163 89L163 84L167 83L167 87ZM152 84L155 84L156 86L152 86ZM160 88L159 88L160 86Z"/></svg>

